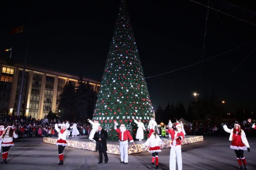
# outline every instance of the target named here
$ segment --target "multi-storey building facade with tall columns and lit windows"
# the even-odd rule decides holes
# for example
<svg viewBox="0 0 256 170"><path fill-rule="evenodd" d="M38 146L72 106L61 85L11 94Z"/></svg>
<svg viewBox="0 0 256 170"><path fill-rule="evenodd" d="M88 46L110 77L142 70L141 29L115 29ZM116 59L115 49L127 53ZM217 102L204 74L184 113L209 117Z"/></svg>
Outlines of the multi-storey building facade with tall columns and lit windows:
<svg viewBox="0 0 256 170"><path fill-rule="evenodd" d="M10 65L6 60L0 59L0 119L8 114L17 115L23 67L23 63ZM77 86L78 78L77 75L26 65L20 115L42 119L49 111L60 114L58 104L63 87L69 81ZM89 80L91 89L99 91L100 81L85 77L83 79Z"/></svg>

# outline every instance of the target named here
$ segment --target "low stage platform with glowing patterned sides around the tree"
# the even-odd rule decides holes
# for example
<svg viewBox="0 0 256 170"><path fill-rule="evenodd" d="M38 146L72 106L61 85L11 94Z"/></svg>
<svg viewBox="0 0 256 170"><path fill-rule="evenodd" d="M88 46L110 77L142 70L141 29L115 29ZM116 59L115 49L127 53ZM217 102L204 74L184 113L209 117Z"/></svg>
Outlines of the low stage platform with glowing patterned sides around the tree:
<svg viewBox="0 0 256 170"><path fill-rule="evenodd" d="M92 140L86 139L87 136L77 136L77 137L68 137L67 143L68 147L72 148L78 148L78 149L84 149L84 150L91 150L95 151L95 144L96 142L92 142ZM57 141L57 137L44 137L43 142L48 144L55 144ZM170 148L171 140L170 138L162 138L164 144L161 145L161 148ZM185 136L184 140L182 141L182 144L190 144L195 142L201 142L204 141L204 136ZM149 146L145 148L141 148L141 144L145 143L146 140L142 141L134 141L135 145L133 145L131 142L128 142L128 154L136 154L140 152L148 152ZM120 146L119 141L107 141L107 147L109 154L120 154Z"/></svg>

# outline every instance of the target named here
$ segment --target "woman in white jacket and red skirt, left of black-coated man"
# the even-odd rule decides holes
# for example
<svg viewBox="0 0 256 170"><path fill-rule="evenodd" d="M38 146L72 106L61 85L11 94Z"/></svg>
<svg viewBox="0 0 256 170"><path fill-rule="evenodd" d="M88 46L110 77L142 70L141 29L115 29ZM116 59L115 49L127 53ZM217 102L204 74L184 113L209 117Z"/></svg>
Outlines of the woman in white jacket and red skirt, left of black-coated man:
<svg viewBox="0 0 256 170"><path fill-rule="evenodd" d="M66 125L62 125L61 128L58 128L58 124L55 124L55 129L57 132L59 132L59 137L56 142L56 145L58 146L58 152L59 152L59 158L60 158L60 163L58 165L63 165L63 150L66 146L68 146L66 142L66 137L67 137L67 131L66 131Z"/></svg>

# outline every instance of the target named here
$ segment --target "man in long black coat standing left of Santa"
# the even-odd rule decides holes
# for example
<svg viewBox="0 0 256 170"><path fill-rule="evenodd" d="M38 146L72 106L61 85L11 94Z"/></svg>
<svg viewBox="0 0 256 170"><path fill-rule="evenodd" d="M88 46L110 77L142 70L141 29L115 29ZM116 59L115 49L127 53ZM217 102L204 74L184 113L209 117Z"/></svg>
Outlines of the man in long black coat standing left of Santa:
<svg viewBox="0 0 256 170"><path fill-rule="evenodd" d="M94 134L94 140L97 141L98 143L98 147L96 146L96 148L99 151L100 154L100 162L98 162L98 164L102 164L103 163L103 155L104 154L104 158L105 158L105 164L108 163L108 154L107 154L107 138L108 138L108 133L102 129L102 126L98 126L98 130L95 132Z"/></svg>

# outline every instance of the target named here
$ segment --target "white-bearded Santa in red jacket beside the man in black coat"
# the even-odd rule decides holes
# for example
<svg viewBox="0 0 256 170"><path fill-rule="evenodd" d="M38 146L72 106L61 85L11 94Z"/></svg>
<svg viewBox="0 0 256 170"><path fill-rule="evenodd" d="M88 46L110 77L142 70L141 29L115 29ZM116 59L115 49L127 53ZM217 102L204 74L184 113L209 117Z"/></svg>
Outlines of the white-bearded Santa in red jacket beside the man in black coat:
<svg viewBox="0 0 256 170"><path fill-rule="evenodd" d="M128 164L128 138L130 142L132 142L133 144L135 143L132 139L132 135L128 130L126 130L124 124L121 124L120 129L118 129L116 128L116 122L114 123L115 123L114 129L116 130L116 132L118 132L119 140L120 140L120 155L121 155L120 163Z"/></svg>

